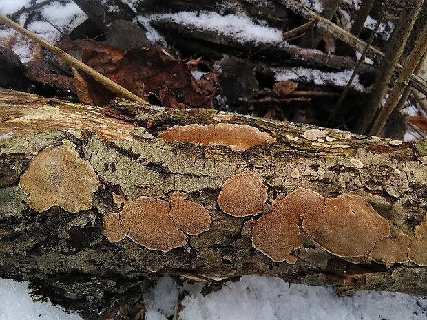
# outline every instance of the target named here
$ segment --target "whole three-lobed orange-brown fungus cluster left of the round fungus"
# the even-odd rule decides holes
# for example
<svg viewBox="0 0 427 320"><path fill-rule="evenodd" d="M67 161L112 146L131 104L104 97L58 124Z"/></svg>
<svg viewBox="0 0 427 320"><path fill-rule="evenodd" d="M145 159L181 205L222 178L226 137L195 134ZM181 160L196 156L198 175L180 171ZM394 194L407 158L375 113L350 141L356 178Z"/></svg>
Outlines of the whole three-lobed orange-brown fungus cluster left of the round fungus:
<svg viewBox="0 0 427 320"><path fill-rule="evenodd" d="M103 235L110 242L125 237L149 250L170 251L187 244L187 235L198 235L209 230L211 216L200 204L185 200L187 194L169 194L171 204L152 197L125 200L112 193L121 213L106 213L103 217Z"/></svg>

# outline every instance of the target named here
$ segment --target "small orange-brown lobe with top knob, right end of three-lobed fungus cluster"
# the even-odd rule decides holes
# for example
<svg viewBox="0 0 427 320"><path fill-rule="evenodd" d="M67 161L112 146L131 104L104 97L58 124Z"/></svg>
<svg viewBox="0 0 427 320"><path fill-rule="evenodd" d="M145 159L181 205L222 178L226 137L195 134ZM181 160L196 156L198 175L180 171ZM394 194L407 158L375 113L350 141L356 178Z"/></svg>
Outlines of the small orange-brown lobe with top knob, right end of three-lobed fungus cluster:
<svg viewBox="0 0 427 320"><path fill-rule="evenodd" d="M209 230L211 216L205 207L196 202L185 200L187 194L183 192L170 193L169 197L171 198L170 215L176 228L187 233L187 235L198 235Z"/></svg>

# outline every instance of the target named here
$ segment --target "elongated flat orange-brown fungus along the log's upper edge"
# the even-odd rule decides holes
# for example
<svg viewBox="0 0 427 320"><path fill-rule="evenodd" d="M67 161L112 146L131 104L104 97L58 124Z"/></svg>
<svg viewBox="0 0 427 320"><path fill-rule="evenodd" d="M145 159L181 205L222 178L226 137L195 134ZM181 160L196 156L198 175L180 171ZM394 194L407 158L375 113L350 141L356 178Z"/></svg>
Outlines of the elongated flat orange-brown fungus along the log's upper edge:
<svg viewBox="0 0 427 320"><path fill-rule="evenodd" d="M194 142L202 145L225 145L233 150L247 150L275 138L250 125L218 123L218 125L175 125L158 135L167 142Z"/></svg>

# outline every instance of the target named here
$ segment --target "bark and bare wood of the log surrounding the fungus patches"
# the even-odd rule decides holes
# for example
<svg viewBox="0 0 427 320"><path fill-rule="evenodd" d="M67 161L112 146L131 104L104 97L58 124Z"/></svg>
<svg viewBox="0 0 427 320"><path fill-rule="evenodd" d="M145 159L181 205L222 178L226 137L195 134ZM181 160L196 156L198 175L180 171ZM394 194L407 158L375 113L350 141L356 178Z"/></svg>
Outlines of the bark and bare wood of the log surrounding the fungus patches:
<svg viewBox="0 0 427 320"><path fill-rule="evenodd" d="M260 217L273 211L273 201L302 187L326 198L360 195L386 219L391 238L410 237L411 243L425 245L426 140L356 136L213 110L165 109L125 100L116 104L132 110L134 122L105 116L97 107L0 89L1 277L31 281L37 292L79 310L85 319L98 319L101 310L105 317L115 314L118 298L122 308L129 307L128 314L136 314L143 308L143 292L161 273L215 284L265 275L332 284L342 295L357 290L427 294L427 268L419 265L424 263L414 250L406 259L407 245L401 262L384 263L370 255L340 257L322 248L297 222L303 244L290 253L295 264L288 264L273 262L251 240ZM195 123L242 125L270 138L246 150L156 138L167 127ZM77 213L59 206L32 209L31 192L26 195L21 188L23 174L44 149L70 145L79 155L76 164L87 161L101 182L92 193L92 208ZM242 172L260 177L267 203L257 215L234 217L217 200L225 181ZM185 193L189 202L209 211L208 231L190 235L185 246L167 252L149 250L130 235L114 243L103 235L103 217L120 213L121 203L144 196L165 206L173 191L181 192L174 197Z"/></svg>

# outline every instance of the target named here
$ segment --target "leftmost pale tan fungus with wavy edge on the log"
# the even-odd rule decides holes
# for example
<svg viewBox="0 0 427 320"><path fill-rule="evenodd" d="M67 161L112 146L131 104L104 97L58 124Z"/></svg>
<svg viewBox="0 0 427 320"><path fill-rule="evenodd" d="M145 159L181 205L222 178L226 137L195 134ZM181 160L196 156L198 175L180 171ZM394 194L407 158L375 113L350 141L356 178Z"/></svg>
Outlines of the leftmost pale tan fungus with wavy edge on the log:
<svg viewBox="0 0 427 320"><path fill-rule="evenodd" d="M90 209L92 192L99 185L90 163L80 158L67 140L34 156L19 180L19 186L30 195L30 207L38 212L51 206L61 206L69 212Z"/></svg>

